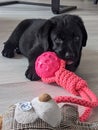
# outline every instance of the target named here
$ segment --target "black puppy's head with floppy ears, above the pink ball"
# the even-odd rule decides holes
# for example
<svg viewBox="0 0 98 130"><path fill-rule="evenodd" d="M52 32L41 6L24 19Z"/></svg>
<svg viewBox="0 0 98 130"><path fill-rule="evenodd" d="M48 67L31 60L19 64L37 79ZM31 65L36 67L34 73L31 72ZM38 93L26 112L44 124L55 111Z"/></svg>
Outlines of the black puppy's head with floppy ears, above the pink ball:
<svg viewBox="0 0 98 130"><path fill-rule="evenodd" d="M41 38L43 37L44 46L47 46L48 50L67 60L67 65L79 60L82 47L86 46L87 41L87 32L80 17L53 17L45 23L42 30Z"/></svg>

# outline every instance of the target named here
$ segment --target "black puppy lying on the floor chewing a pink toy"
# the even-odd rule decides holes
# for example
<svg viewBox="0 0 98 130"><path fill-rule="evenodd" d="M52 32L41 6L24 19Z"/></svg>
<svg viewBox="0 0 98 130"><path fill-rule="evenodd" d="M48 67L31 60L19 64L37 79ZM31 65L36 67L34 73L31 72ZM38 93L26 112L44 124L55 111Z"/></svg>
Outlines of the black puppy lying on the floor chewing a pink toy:
<svg viewBox="0 0 98 130"><path fill-rule="evenodd" d="M40 79L35 72L35 60L45 51L53 51L67 60L67 69L75 71L80 63L82 47L86 46L87 32L76 15L61 15L51 19L22 21L4 43L2 55L12 58L22 53L28 58L25 73L30 80Z"/></svg>

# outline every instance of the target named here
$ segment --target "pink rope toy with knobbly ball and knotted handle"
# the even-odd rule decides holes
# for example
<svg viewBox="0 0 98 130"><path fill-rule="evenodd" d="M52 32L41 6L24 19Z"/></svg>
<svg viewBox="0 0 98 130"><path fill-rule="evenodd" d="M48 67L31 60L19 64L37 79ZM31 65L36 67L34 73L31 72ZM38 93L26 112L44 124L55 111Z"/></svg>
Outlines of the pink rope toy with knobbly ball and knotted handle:
<svg viewBox="0 0 98 130"><path fill-rule="evenodd" d="M92 109L98 106L96 95L88 88L85 80L75 73L65 69L66 62L57 57L54 52L44 52L35 62L36 73L46 83L56 82L67 89L70 93L80 96L81 99L67 96L58 96L54 100L57 103L70 102L85 106L84 113L80 116L80 121L85 121L89 117Z"/></svg>

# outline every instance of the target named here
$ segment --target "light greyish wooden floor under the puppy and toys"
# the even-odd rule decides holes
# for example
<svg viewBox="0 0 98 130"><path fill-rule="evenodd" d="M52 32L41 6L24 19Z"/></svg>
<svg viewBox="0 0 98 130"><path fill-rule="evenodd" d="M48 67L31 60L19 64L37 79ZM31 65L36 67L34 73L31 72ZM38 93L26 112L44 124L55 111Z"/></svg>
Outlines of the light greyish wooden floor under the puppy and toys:
<svg viewBox="0 0 98 130"><path fill-rule="evenodd" d="M38 0L37 0L38 1ZM50 0L43 0L50 2ZM89 87L98 96L98 5L91 0L62 0L62 4L77 5L78 9L67 12L82 17L87 32L88 42L83 50L81 64L77 74L87 80ZM50 18L54 16L50 8L11 5L0 7L0 52L3 42L7 40L13 28L25 18ZM53 97L70 95L67 91L54 85L42 82L30 82L25 76L27 59L16 56L13 59L2 57L0 54L0 113L21 100L31 100L40 93L48 92ZM80 109L80 111L83 108ZM94 109L89 121L98 121L98 108Z"/></svg>

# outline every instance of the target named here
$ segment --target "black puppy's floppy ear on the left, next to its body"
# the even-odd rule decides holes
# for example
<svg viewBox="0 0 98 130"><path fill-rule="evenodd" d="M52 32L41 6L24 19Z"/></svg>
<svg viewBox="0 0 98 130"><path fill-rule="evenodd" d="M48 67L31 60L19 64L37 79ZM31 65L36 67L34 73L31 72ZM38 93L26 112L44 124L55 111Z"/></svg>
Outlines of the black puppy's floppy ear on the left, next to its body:
<svg viewBox="0 0 98 130"><path fill-rule="evenodd" d="M49 49L49 37L54 23L51 20L47 20L38 31L38 39L41 43L44 51Z"/></svg>

